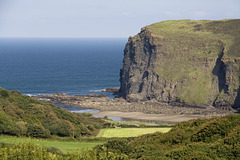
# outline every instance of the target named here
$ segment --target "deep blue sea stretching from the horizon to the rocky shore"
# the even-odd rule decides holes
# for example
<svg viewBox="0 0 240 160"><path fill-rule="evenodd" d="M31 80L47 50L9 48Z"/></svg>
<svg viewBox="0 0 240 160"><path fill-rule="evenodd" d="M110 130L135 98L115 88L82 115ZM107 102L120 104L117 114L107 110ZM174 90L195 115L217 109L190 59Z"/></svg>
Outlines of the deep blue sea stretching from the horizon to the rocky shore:
<svg viewBox="0 0 240 160"><path fill-rule="evenodd" d="M22 94L99 94L119 87L127 39L0 38L0 87Z"/></svg>

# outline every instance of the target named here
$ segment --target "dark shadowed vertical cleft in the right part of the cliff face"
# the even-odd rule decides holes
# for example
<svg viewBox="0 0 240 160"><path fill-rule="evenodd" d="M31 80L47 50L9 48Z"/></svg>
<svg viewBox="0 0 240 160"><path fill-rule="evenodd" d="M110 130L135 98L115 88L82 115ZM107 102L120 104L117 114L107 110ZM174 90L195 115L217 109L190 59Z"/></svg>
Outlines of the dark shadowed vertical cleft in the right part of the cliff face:
<svg viewBox="0 0 240 160"><path fill-rule="evenodd" d="M213 68L213 75L218 77L218 88L219 93L224 90L224 93L228 91L228 86L226 85L226 67L222 61L224 52L224 48L222 49L222 52L219 54L218 59L216 61L216 65Z"/></svg>

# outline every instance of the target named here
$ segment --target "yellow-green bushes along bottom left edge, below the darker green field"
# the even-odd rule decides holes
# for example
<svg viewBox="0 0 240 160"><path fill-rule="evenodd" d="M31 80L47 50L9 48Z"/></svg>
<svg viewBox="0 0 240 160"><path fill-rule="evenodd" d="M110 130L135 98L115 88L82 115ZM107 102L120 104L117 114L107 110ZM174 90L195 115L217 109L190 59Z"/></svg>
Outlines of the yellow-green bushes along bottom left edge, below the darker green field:
<svg viewBox="0 0 240 160"><path fill-rule="evenodd" d="M102 147L104 151L106 148ZM33 143L16 143L13 145L0 144L1 160L97 160L97 159L126 159L127 156L111 152L97 153L96 151L83 152L82 154L72 153L62 155L49 148L34 145Z"/></svg>

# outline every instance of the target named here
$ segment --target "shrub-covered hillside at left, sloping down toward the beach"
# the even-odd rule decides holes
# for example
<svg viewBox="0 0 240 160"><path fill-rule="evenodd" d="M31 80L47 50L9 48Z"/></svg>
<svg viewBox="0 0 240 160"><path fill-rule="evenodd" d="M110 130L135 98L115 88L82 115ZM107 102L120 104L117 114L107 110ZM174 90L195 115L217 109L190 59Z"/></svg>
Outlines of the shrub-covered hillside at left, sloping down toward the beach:
<svg viewBox="0 0 240 160"><path fill-rule="evenodd" d="M96 135L101 126L100 119L71 113L18 91L0 88L0 134L78 138Z"/></svg>

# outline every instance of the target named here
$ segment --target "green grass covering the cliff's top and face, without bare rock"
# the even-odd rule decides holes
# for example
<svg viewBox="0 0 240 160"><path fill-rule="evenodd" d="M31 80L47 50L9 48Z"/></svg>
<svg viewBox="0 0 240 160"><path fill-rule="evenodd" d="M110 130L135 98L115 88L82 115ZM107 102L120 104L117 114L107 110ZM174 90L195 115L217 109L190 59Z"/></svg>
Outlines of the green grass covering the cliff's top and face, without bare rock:
<svg viewBox="0 0 240 160"><path fill-rule="evenodd" d="M229 66L231 59L240 57L240 20L169 20L146 29L151 36L158 37L154 44L159 43L164 54L164 58L158 58L158 74L177 85L177 98L211 105L218 95L218 82L213 81L216 59L223 52L222 61ZM230 94L225 96L231 95L230 99L236 97L235 90L240 84L238 72L234 70L236 74L230 75L234 82L226 84Z"/></svg>

